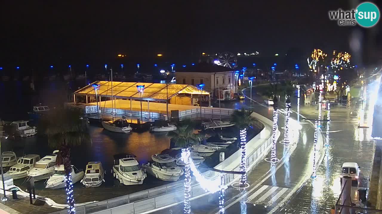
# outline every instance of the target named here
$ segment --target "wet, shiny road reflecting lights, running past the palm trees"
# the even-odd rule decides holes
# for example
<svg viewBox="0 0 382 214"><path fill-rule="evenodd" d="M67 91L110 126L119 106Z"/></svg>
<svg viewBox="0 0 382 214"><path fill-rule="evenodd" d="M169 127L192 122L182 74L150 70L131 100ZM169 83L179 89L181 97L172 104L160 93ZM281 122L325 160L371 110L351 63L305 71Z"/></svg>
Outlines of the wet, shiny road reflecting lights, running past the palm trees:
<svg viewBox="0 0 382 214"><path fill-rule="evenodd" d="M373 130L372 116L374 102L377 100L378 84L367 86L367 101L365 106L365 121L370 128L358 128L358 114L361 102L357 102L351 109L342 106L332 107L331 123L328 135L328 147L322 142L317 145L316 161L320 163L316 171L316 178L312 179L312 160L314 156L313 133L314 128L308 122L302 122L297 143L286 150L282 144L277 144L277 157L282 160L276 165L261 161L248 176L250 187L238 191L229 187L225 191L225 213L330 213L341 192L340 173L344 162L357 162L361 167L359 184L352 187L353 201L359 201L359 190L365 190L370 185L372 164L374 159L375 141L371 137ZM247 94L249 92L245 91ZM252 104L253 110L267 118L272 117L272 110L263 106L261 97L253 93L253 99L259 103ZM219 105L219 104L215 104ZM224 103L224 107L240 109L250 106L245 101ZM222 105L223 107L223 105ZM296 104L292 103L296 110ZM315 107L301 105L301 114L306 118L317 118ZM283 117L279 114L279 127L283 126ZM296 118L292 113L291 117ZM326 140L326 122L322 123L323 140ZM283 138L283 130L279 141ZM287 151L287 152L286 152ZM217 214L218 193L191 201L194 214ZM207 201L207 202L206 202ZM183 204L163 209L155 213L181 213Z"/></svg>

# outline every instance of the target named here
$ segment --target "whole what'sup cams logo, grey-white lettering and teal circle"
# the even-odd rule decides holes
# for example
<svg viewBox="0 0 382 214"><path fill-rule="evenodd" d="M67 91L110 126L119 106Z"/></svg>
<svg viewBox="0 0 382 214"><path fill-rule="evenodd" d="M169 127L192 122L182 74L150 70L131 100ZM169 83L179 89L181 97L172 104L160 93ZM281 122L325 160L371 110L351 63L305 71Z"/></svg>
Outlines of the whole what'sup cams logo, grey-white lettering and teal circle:
<svg viewBox="0 0 382 214"><path fill-rule="evenodd" d="M329 11L329 19L336 20L339 26L372 27L379 21L379 9L371 2L364 2L354 10Z"/></svg>

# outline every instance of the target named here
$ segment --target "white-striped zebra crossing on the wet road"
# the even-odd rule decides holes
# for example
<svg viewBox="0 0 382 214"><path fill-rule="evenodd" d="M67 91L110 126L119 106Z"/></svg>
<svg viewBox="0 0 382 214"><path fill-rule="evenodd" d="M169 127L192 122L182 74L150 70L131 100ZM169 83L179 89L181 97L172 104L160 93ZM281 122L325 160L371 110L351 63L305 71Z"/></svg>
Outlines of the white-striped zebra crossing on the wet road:
<svg viewBox="0 0 382 214"><path fill-rule="evenodd" d="M261 185L252 194L248 195L246 203L273 206L279 198L287 194L289 188Z"/></svg>

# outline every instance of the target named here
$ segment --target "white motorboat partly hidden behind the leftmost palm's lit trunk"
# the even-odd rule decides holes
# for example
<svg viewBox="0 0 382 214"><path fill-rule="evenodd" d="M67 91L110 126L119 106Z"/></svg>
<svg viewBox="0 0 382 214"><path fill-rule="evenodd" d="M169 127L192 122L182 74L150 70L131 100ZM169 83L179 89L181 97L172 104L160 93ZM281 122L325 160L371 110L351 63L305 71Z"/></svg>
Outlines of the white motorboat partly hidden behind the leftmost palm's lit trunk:
<svg viewBox="0 0 382 214"><path fill-rule="evenodd" d="M71 167L72 167L72 171L71 171L72 182L73 184L75 184L84 177L84 172L79 171L73 165ZM45 186L45 188L59 189L59 188L65 188L65 187L66 187L66 182L65 182L64 165L56 166L56 168L53 171L53 175L50 176L50 178L48 179L47 185Z"/></svg>

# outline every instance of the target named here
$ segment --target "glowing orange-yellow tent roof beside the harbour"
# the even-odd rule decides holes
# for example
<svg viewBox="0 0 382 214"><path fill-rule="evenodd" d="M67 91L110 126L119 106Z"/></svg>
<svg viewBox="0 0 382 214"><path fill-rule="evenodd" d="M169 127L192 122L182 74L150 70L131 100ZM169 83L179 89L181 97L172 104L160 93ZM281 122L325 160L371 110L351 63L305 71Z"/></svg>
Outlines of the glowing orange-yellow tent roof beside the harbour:
<svg viewBox="0 0 382 214"><path fill-rule="evenodd" d="M74 92L77 95L95 95L93 85L97 87L97 95L101 97L111 97L123 99L140 99L137 85L144 85L142 100L166 101L178 94L209 94L207 91L200 91L193 85L187 84L167 84L163 83L140 83L140 82L117 82L113 81L95 81L84 88ZM113 94L112 94L113 85Z"/></svg>

